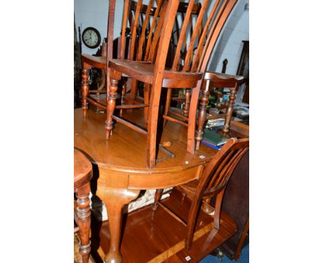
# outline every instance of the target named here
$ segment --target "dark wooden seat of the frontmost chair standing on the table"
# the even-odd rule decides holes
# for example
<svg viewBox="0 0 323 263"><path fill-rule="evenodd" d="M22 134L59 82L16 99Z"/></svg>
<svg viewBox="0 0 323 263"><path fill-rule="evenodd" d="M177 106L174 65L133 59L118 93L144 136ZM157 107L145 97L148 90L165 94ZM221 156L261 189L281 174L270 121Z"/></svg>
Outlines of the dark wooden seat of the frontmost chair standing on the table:
<svg viewBox="0 0 323 263"><path fill-rule="evenodd" d="M142 81L153 84L153 75L155 64L141 61L127 61L112 59L109 61L109 67L117 72L121 72ZM175 72L165 70L163 87L184 88L196 87L197 81L202 79L203 74L200 72Z"/></svg>

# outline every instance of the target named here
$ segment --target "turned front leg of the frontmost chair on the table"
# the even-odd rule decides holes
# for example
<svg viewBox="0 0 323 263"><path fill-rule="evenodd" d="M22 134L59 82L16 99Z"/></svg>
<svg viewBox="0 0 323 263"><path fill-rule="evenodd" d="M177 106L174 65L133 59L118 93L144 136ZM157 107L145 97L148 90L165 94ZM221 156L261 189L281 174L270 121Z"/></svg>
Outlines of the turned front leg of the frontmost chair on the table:
<svg viewBox="0 0 323 263"><path fill-rule="evenodd" d="M111 74L111 72L110 72ZM106 105L106 139L110 138L112 131L112 115L115 112L115 99L117 96L119 81L113 78L112 74L110 76L110 85L109 85L109 97L108 105Z"/></svg>

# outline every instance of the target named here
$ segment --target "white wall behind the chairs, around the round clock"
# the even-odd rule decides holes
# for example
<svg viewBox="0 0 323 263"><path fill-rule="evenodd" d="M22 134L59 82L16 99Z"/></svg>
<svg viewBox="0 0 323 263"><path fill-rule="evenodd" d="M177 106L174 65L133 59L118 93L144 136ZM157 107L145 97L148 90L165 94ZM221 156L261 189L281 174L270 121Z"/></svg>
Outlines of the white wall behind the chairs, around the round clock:
<svg viewBox="0 0 323 263"><path fill-rule="evenodd" d="M213 2L215 0L212 0ZM148 3L148 0L144 0ZM124 1L116 1L115 12L115 32L117 37L121 31L121 19ZM222 37L219 39L213 57L210 60L208 70L221 72L222 61L228 59L226 72L236 74L239 64L239 57L242 52L242 40L249 40L249 12L244 10L248 0L238 0L235 9L228 18ZM108 23L108 0L74 0L75 25L81 26L81 32L89 26L97 28L101 34L101 39L106 37ZM87 48L82 43L82 52L95 54L96 49Z"/></svg>

